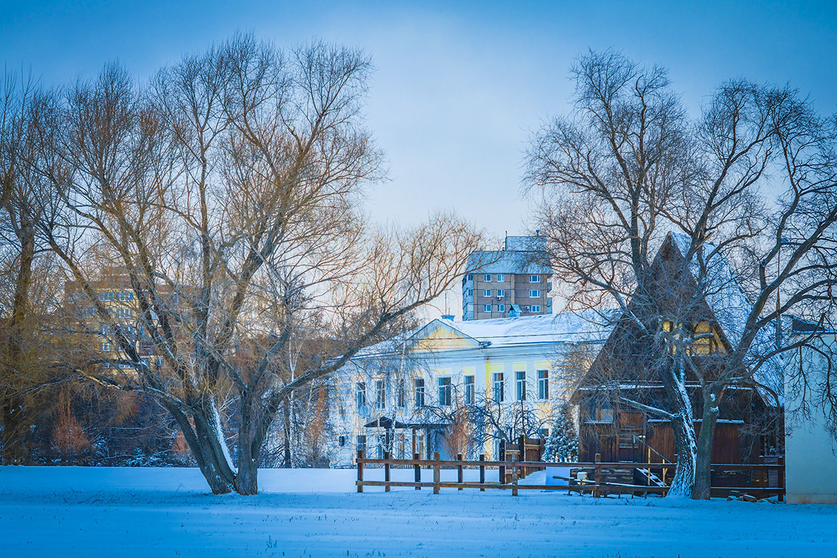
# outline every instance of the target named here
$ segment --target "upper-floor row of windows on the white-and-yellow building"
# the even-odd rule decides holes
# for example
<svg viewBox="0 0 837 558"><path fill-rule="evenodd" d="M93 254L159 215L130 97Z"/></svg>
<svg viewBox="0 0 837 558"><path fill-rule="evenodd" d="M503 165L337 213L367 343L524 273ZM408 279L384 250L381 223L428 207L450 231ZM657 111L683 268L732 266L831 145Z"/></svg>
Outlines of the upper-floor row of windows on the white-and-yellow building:
<svg viewBox="0 0 837 558"><path fill-rule="evenodd" d="M505 401L506 381L503 372L495 372L491 376L491 398L494 402ZM440 407L449 407L453 404L453 383L450 376L437 378L437 401ZM463 380L465 391L465 404L475 403L474 376L465 376ZM376 380L374 385L375 408L383 409L387 406L387 382ZM537 398L549 399L549 371L537 371ZM526 401L526 371L515 372L515 401ZM355 402L357 408L367 404L367 386L365 381L358 381L355 385ZM395 392L395 407L405 407L407 402L404 381L398 381ZM424 378L413 380L413 406L424 407L427 405Z"/></svg>

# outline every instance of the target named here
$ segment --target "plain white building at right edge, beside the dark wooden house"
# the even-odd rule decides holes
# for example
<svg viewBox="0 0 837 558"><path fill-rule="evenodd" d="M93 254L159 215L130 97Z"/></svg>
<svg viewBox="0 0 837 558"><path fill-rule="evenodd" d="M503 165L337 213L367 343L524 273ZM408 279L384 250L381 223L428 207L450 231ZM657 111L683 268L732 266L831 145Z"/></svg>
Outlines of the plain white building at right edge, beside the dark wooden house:
<svg viewBox="0 0 837 558"><path fill-rule="evenodd" d="M796 335L809 335L801 331ZM785 486L788 502L837 504L837 441L829 433L826 375L837 382L837 333L824 332L813 348L793 351L785 376ZM829 366L830 361L830 366ZM829 371L830 368L830 371ZM802 376L807 382L801 381ZM806 385L807 384L807 385ZM830 387L832 393L837 389ZM799 412L803 397L810 412Z"/></svg>

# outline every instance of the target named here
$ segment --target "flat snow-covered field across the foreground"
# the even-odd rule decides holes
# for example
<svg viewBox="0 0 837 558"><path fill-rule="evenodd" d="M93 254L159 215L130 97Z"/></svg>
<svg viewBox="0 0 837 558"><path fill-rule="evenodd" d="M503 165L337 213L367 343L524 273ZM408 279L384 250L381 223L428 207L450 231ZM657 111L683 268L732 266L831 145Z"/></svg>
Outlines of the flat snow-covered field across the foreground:
<svg viewBox="0 0 837 558"><path fill-rule="evenodd" d="M837 556L837 506L357 494L355 475L264 470L244 497L208 494L196 469L0 468L0 556Z"/></svg>

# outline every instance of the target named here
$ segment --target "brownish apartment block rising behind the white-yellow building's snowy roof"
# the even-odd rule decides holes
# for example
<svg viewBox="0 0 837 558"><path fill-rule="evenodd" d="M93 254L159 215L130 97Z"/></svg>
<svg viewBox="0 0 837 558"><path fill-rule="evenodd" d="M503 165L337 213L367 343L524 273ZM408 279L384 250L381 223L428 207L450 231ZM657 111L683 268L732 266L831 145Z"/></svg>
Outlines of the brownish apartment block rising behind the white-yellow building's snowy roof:
<svg viewBox="0 0 837 558"><path fill-rule="evenodd" d="M462 278L462 319L552 314L552 269L541 263L540 237L506 237L503 250L470 255Z"/></svg>

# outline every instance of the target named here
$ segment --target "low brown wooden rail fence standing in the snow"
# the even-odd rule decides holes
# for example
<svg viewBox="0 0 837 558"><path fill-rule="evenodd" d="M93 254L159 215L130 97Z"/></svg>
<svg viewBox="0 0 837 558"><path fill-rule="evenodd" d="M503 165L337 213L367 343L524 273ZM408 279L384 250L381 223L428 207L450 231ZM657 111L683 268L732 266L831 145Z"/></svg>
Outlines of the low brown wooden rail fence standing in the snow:
<svg viewBox="0 0 837 558"><path fill-rule="evenodd" d="M383 465L383 480L368 480L363 478L366 465ZM393 481L390 476L390 469L393 467L413 468L413 481ZM556 478L566 481L562 484L520 484L524 474L545 469L547 467L569 468L576 473L573 478ZM364 486L383 486L385 492L389 492L393 486L413 487L416 490L432 488L433 494L439 494L439 489L506 489L511 490L511 495L516 496L519 490L567 490L578 494L593 494L599 497L607 494L631 494L665 495L669 485L660 479L672 479L674 477L675 463L545 463L542 461L487 461L485 455L480 455L476 461L465 461L460 453L454 459L439 459L439 453L434 453L433 459L420 459L415 453L412 459L391 459L388 453L384 453L383 459L364 458L363 451L357 452L357 492L363 492ZM422 481L422 469L433 470L433 481ZM455 469L457 479L454 482L441 480L441 469ZM480 479L478 482L465 482L465 468L479 468ZM500 482L486 482L485 469L497 468ZM770 472L776 474L771 475ZM578 473L586 475L578 475ZM632 472L632 473L631 473ZM624 479L625 473L648 475L648 484L634 484L619 482ZM586 476L586 478L585 478ZM651 482L654 477L657 484ZM771 479L776 486L770 486ZM739 485L740 484L740 485ZM782 500L785 493L784 488L784 465L779 464L726 464L717 463L712 465L712 487L713 497L724 497L732 491L751 494L759 498L778 496Z"/></svg>

